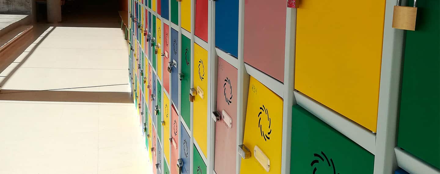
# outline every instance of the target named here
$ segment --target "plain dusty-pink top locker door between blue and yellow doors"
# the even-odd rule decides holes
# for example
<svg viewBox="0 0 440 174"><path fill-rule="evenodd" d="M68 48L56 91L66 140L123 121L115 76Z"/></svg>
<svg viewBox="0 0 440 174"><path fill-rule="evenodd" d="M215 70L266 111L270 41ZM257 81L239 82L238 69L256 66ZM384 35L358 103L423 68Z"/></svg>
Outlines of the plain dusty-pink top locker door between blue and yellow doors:
<svg viewBox="0 0 440 174"><path fill-rule="evenodd" d="M271 15L261 9L271 9ZM286 1L249 0L245 4L244 61L284 82ZM262 23L264 21L264 23ZM265 37L261 42L260 37Z"/></svg>

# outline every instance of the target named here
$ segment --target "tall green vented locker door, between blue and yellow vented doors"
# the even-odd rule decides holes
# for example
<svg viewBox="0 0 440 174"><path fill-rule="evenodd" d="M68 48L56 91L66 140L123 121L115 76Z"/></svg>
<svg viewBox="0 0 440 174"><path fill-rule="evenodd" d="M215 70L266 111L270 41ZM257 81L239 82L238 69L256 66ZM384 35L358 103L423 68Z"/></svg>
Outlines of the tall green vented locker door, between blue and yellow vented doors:
<svg viewBox="0 0 440 174"><path fill-rule="evenodd" d="M190 111L190 98L189 92L191 88L191 40L182 34L182 60L181 60L181 70L183 74L183 79L181 80L180 94L180 114L183 120L187 124L188 128L191 129L191 111Z"/></svg>

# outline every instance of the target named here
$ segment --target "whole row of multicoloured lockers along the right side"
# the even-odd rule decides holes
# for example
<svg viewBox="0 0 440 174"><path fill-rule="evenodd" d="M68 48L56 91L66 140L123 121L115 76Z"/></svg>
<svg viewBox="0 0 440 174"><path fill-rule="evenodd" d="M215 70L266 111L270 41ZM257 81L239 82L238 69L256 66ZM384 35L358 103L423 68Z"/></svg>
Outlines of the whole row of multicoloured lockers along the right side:
<svg viewBox="0 0 440 174"><path fill-rule="evenodd" d="M171 4L170 7L168 3ZM418 4L419 9L423 10L420 12L423 20L418 23L416 31L407 32L406 35L398 145L426 163L439 168L440 157L435 155L440 153L440 130L437 124L440 122L439 41L435 40L439 33L439 9L438 5L432 6L435 3L438 4L434 1ZM208 1L197 0L194 4L194 35L209 43ZM216 28L213 34L215 45L220 50L237 57L238 1L217 0L215 5ZM348 18L344 14L326 14L323 8L319 8L325 5L318 1L308 1L301 4L303 8L297 9L295 90L376 132L385 4L371 3L367 6L364 4L365 9L356 9L356 11L355 9L348 11L344 8L346 12L365 15L358 18L369 18L363 22L357 21L357 18ZM209 78L207 74L212 58L207 49L198 43L191 45L191 39L180 34L182 33L180 30L191 32L191 1L133 0L130 1L130 7L129 20L132 22L130 78L132 89L136 89L133 94L135 102L140 107L139 114L142 116L140 121L145 123L146 130L150 132L148 135L152 135L149 137L152 139L148 139L150 142L146 143L148 147L153 148L150 149L150 152L154 152L153 162L162 166L163 161L166 161L163 163L166 167L158 167L158 169L163 168L166 173L170 166L173 173L176 171L173 170L173 166L176 167L179 161L177 159L180 158L184 165L180 168L180 172L182 170L183 173L189 172L190 166L185 165L193 161L194 172L201 170L207 173L206 168L209 163L205 163L204 160L208 157L207 141L209 140L206 139L210 120L207 119L206 114L209 109L207 99L209 93L206 91ZM260 9L270 9L271 17L262 13ZM335 15L340 20L331 23L329 19L335 18ZM246 1L244 16L244 61L283 82L286 30L284 32L280 30L286 28L286 2ZM279 18L274 20L273 16ZM170 27L163 20L170 20L175 25L179 25L180 22L182 28ZM262 25L261 20L268 21L268 24ZM368 25L365 24L366 22ZM316 27L317 25L319 26ZM351 31L356 25L363 25L363 28L356 32ZM344 28L349 28L352 33L347 33L348 30ZM170 46L169 43L172 45ZM191 51L194 51L192 57ZM266 60L267 58L270 60ZM194 65L191 65L191 59ZM180 65L179 62L182 64ZM191 71L194 76L191 76ZM216 123L213 170L217 174L229 174L235 173L237 153L237 130L232 122L238 119L235 98L238 70L218 57L217 71L217 79L211 82L217 86L216 110L221 121ZM191 88L194 88L193 91ZM424 97L420 98L420 95ZM193 114L191 114L190 101L193 102ZM245 126L243 144L252 147L250 148L254 154L251 156L252 159L262 159L242 160L241 173L264 173L268 168L269 173L280 173L283 100L263 83L251 77L247 101L246 125L256 126ZM161 113L162 111L164 113ZM174 119L173 114L176 116ZM191 120L194 122L193 128L191 128ZM172 125L169 125L168 121ZM191 129L193 129L192 134ZM373 173L373 154L302 109L301 106L293 106L290 129L292 130L292 159L290 159L292 173L297 171L310 173L322 168L317 166L327 164L330 168L324 170L359 173L359 169L362 169L366 174ZM172 139L169 139L170 134ZM191 144L193 142L191 138L197 143ZM173 150L176 152L173 153ZM193 152L192 160L188 152ZM255 152L261 152L261 156L256 156ZM165 153L164 159L158 155L160 153ZM182 158L183 156L186 158ZM270 159L270 167L262 165L263 159Z"/></svg>

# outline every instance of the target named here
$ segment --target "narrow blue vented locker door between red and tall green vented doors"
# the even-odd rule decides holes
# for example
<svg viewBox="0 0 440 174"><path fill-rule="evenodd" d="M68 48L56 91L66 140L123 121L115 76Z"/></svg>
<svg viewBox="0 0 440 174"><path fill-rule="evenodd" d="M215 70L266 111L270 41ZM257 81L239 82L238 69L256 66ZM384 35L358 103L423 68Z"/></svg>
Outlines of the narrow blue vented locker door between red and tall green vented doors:
<svg viewBox="0 0 440 174"><path fill-rule="evenodd" d="M171 28L171 61L177 62L179 67L179 32ZM171 69L171 100L179 108L179 69Z"/></svg>

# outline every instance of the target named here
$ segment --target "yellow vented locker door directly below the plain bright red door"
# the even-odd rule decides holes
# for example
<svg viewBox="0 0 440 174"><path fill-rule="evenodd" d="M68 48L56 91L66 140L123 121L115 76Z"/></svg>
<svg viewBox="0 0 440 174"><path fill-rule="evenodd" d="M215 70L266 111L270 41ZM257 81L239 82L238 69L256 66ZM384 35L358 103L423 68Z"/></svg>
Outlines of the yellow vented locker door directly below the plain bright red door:
<svg viewBox="0 0 440 174"><path fill-rule="evenodd" d="M194 139L206 157L208 120L208 51L194 43Z"/></svg>

